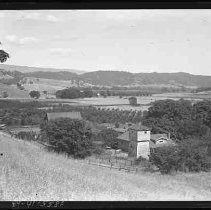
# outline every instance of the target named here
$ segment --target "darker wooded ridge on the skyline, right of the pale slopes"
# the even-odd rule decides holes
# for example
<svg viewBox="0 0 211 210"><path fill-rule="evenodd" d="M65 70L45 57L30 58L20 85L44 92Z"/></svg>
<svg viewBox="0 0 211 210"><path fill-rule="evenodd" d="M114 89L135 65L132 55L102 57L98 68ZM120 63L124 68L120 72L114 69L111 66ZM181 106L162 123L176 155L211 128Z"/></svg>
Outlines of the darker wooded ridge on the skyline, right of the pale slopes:
<svg viewBox="0 0 211 210"><path fill-rule="evenodd" d="M81 79L95 85L151 85L173 84L184 86L211 86L211 76L188 73L129 73L123 71L95 71L80 75Z"/></svg>

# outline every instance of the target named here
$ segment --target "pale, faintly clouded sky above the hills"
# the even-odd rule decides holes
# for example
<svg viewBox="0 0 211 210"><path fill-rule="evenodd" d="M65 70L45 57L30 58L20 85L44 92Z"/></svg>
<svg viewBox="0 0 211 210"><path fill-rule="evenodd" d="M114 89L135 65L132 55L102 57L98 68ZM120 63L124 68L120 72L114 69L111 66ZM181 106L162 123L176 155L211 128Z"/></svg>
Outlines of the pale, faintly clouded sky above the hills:
<svg viewBox="0 0 211 210"><path fill-rule="evenodd" d="M6 64L211 75L211 10L2 10Z"/></svg>

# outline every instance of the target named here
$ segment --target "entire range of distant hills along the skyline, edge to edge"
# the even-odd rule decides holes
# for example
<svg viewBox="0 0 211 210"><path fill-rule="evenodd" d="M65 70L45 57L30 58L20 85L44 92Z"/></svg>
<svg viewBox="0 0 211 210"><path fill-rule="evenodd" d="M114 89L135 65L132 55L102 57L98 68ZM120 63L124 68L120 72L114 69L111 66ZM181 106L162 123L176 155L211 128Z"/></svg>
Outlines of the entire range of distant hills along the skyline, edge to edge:
<svg viewBox="0 0 211 210"><path fill-rule="evenodd" d="M16 84L24 77L63 80L100 86L175 85L210 87L211 76L189 73L130 73L125 71L93 71L79 74L77 70L0 65L0 83Z"/></svg>

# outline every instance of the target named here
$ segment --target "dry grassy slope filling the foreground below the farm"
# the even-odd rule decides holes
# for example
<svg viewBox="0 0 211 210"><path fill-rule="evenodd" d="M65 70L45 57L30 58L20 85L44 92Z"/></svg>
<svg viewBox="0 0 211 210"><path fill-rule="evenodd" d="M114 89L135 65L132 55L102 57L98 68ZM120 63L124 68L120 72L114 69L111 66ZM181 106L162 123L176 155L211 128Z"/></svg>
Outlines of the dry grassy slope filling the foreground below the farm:
<svg viewBox="0 0 211 210"><path fill-rule="evenodd" d="M128 174L0 134L0 200L210 200L211 173Z"/></svg>

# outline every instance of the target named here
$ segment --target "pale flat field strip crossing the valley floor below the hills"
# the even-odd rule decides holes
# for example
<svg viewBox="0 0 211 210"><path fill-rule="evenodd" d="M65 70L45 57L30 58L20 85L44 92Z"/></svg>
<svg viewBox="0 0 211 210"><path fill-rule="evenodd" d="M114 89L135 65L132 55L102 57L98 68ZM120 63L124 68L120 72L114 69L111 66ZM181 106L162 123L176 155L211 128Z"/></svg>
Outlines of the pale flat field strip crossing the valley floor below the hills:
<svg viewBox="0 0 211 210"><path fill-rule="evenodd" d="M41 86L39 86L39 88ZM25 101L25 102L35 100L32 98L29 98L28 92L25 92L25 91L20 91L20 92L22 93L22 95L17 94L16 92L15 92L15 94L12 94L12 95L9 94L8 99L19 99L19 100ZM179 100L180 98L184 98L184 99L190 100L192 102L196 102L196 101L203 100L203 99L211 100L211 94L210 93L193 94L193 93L178 92L178 93L153 94L152 96L140 96L140 97L137 97L137 102L138 102L138 104L140 104L140 106L135 106L135 107L131 106L129 104L128 98L129 97L119 98L118 96L109 96L106 98L92 97L92 98L77 98L77 99L57 99L57 98L46 99L43 96L43 94L41 94L40 99L39 100L36 99L36 101L70 104L70 105L75 105L75 106L92 105L92 106L96 106L96 107L100 107L100 108L107 108L107 109L144 111L144 110L148 110L150 103L152 103L156 100L165 100L165 99ZM7 100L7 99L5 99L5 100Z"/></svg>

